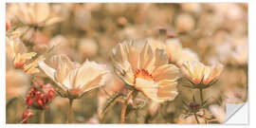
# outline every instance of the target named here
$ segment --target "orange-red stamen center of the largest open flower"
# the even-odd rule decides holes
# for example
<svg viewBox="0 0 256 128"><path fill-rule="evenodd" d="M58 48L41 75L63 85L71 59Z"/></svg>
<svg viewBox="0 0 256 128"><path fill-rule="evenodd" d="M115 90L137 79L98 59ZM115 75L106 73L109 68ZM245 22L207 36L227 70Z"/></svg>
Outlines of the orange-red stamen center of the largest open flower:
<svg viewBox="0 0 256 128"><path fill-rule="evenodd" d="M154 77L145 69L137 69L134 75L134 84L136 83L136 79L144 79L149 81L154 81Z"/></svg>

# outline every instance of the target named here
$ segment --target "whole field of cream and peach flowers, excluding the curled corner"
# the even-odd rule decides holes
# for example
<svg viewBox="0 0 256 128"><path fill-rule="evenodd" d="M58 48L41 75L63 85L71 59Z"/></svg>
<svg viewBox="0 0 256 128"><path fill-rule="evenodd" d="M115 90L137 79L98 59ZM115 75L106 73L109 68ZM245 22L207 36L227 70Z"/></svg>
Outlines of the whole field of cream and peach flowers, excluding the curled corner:
<svg viewBox="0 0 256 128"><path fill-rule="evenodd" d="M7 123L223 123L247 101L247 4L6 10Z"/></svg>

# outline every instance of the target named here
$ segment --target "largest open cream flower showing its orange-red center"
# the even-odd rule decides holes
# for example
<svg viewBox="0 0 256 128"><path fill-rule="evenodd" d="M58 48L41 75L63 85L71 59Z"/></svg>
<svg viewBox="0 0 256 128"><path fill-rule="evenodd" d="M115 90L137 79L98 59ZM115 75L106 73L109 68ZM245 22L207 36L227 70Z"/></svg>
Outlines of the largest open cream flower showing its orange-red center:
<svg viewBox="0 0 256 128"><path fill-rule="evenodd" d="M118 76L149 99L173 101L178 94L179 69L168 64L163 49L153 50L144 40L123 41L112 50L111 58Z"/></svg>

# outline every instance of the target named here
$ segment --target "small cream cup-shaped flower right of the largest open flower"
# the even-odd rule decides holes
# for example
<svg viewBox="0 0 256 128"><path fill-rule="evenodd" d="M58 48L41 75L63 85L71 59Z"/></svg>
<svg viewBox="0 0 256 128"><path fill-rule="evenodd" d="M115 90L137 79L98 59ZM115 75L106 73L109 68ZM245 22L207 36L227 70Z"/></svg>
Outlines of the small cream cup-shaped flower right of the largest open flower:
<svg viewBox="0 0 256 128"><path fill-rule="evenodd" d="M181 71L192 82L194 87L208 87L220 76L223 70L222 64L207 66L200 62L186 62L182 64ZM202 86L203 85L203 86Z"/></svg>

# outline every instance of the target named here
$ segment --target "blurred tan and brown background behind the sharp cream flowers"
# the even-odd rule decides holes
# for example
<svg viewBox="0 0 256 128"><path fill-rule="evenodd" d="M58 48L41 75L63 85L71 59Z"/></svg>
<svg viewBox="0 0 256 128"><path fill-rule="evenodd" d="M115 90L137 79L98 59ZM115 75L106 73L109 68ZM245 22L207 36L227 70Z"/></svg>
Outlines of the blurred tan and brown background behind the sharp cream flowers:
<svg viewBox="0 0 256 128"><path fill-rule="evenodd" d="M54 47L50 56L66 54L79 63L86 59L107 64L113 71L110 52L120 41L148 39L165 44L175 39L183 48L195 52L203 64L224 64L219 82L204 92L210 102L247 101L247 4L175 3L175 4L48 4L48 8L29 11L49 12L46 18L57 17L52 24L31 27L36 23L21 16L24 5L7 4L7 31L15 27L25 31L21 41L27 51L43 54ZM20 11L19 11L20 10ZM27 10L28 11L28 10ZM23 11L22 11L23 12ZM25 20L21 20L25 19ZM54 24L53 24L54 23ZM170 41L170 40L169 40ZM155 44L156 44L155 43ZM7 123L19 123L26 109L26 94L32 77L13 67L7 58ZM113 72L113 74L115 74ZM42 75L46 83L52 83ZM106 82L106 90L117 92L124 83L115 75ZM181 119L181 101L191 101L195 90L178 85L180 95L173 102L146 105L129 113L128 123L188 123ZM197 97L197 96L195 96ZM213 98L211 98L213 97ZM102 108L109 96L101 89L74 101L76 123L119 123L121 103L117 102L101 119ZM141 96L142 99L143 96ZM55 97L46 109L46 123L64 123L68 101ZM225 106L225 105L224 105ZM132 108L131 108L132 109ZM216 109L214 109L216 110ZM29 123L38 123L39 114ZM221 110L219 110L221 111ZM218 117L218 116L215 116ZM216 121L216 123L219 121Z"/></svg>

